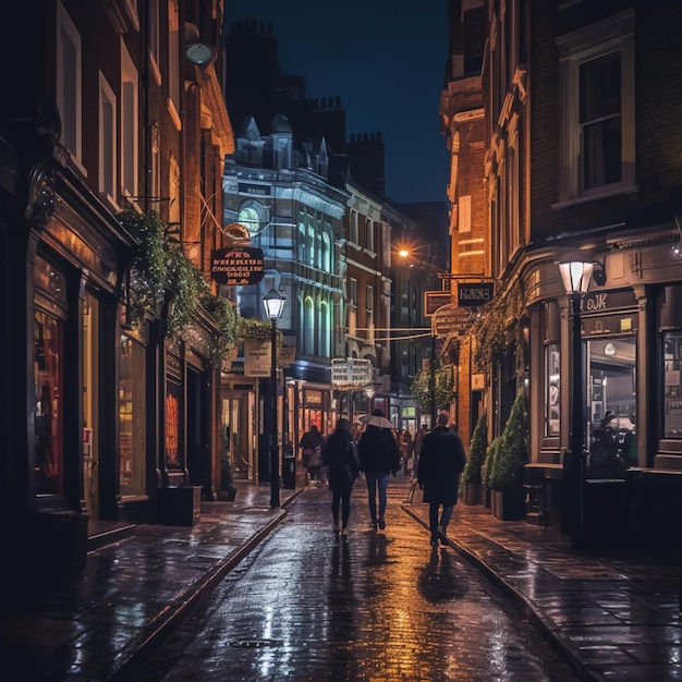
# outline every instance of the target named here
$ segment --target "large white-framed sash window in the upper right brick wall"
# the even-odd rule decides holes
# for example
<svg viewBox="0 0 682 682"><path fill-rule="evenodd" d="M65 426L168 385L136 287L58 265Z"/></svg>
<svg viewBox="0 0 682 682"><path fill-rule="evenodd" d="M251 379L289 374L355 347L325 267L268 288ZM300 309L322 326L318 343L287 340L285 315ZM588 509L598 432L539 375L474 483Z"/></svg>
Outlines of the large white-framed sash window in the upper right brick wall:
<svg viewBox="0 0 682 682"><path fill-rule="evenodd" d="M560 203L632 191L634 12L561 36Z"/></svg>

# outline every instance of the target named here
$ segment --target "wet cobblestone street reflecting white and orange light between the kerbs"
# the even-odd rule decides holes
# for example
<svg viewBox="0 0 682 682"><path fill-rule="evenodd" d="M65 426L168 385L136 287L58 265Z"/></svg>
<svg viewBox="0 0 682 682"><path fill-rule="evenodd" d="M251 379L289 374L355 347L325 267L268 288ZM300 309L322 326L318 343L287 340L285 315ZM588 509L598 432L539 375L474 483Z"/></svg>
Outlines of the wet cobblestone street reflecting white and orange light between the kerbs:
<svg viewBox="0 0 682 682"><path fill-rule="evenodd" d="M576 680L476 568L429 546L405 494L392 479L375 532L360 479L342 540L326 487L304 490L133 679Z"/></svg>

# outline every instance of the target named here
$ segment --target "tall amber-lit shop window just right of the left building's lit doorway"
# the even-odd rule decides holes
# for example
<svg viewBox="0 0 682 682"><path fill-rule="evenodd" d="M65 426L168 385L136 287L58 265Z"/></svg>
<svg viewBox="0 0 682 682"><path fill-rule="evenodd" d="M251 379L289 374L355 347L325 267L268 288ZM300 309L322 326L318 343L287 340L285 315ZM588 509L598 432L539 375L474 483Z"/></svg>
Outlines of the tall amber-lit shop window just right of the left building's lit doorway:
<svg viewBox="0 0 682 682"><path fill-rule="evenodd" d="M145 349L121 337L119 362L119 456L121 495L145 492Z"/></svg>

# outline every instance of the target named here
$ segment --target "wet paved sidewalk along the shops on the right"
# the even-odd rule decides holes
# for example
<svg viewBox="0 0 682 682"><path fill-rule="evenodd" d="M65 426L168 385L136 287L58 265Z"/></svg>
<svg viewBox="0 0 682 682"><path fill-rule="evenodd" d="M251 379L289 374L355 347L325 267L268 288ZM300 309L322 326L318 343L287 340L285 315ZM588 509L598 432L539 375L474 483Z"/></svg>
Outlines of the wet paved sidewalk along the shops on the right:
<svg viewBox="0 0 682 682"><path fill-rule="evenodd" d="M419 492L415 500L421 499ZM403 509L428 527L428 507ZM525 521L458 504L450 545L520 602L583 680L682 680L680 568L596 557Z"/></svg>

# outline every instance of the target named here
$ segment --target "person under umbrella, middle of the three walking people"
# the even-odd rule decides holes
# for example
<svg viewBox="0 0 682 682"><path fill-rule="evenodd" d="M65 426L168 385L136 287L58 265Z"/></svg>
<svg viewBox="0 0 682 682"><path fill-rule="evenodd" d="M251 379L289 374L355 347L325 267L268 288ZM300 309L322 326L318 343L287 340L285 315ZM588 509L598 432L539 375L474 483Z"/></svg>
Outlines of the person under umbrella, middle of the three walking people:
<svg viewBox="0 0 682 682"><path fill-rule="evenodd" d="M360 467L365 473L367 484L367 501L372 527L386 528L387 490L389 475L393 476L400 468L400 450L392 434L393 425L386 418L381 410L375 410L369 417L364 417L365 430L360 437L357 450ZM379 499L377 514L377 495Z"/></svg>

